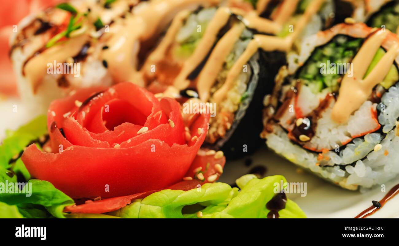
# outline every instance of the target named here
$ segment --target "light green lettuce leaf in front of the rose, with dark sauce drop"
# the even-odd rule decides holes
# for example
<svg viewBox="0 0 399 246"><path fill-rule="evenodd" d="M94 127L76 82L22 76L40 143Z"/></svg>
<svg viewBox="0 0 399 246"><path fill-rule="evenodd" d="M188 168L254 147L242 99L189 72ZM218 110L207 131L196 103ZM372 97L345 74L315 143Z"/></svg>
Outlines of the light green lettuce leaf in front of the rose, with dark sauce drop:
<svg viewBox="0 0 399 246"><path fill-rule="evenodd" d="M280 175L263 179L245 175L237 179L241 191L225 183L207 183L189 191L163 190L108 214L122 218L197 218L201 211L202 218L267 218L266 203L275 196L273 184L281 180L286 182ZM279 215L306 218L290 200Z"/></svg>

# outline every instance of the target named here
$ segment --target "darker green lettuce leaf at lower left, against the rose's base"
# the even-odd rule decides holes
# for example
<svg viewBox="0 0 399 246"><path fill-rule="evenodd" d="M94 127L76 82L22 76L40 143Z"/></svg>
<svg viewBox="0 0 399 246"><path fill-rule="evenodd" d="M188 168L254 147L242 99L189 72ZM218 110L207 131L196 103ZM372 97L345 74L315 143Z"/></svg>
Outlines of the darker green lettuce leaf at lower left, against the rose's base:
<svg viewBox="0 0 399 246"><path fill-rule="evenodd" d="M32 179L27 185L26 193L4 193L0 196L0 202L17 205L20 210L24 210L28 205L41 205L57 218L65 218L65 214L62 212L64 207L75 203L73 199L56 189L50 182ZM27 193L30 196L26 196ZM32 211L26 211L26 213L30 212ZM39 216L37 212L39 211L35 211L32 216ZM40 213L40 216L43 215Z"/></svg>

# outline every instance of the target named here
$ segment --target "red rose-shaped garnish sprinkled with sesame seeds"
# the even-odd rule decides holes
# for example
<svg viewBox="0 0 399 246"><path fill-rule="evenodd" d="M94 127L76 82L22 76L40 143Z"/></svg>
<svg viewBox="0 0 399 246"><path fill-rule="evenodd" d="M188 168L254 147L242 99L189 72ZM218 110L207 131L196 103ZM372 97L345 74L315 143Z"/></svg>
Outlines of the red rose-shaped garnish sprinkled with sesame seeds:
<svg viewBox="0 0 399 246"><path fill-rule="evenodd" d="M32 177L75 198L165 189L188 175L205 140L208 120L209 114L196 114L186 126L176 100L158 100L132 83L83 89L51 103L47 115L51 153L31 145L22 161ZM193 137L188 142L187 130ZM194 164L201 162L205 169L204 161ZM223 157L220 164L224 161ZM203 173L205 179L210 175Z"/></svg>

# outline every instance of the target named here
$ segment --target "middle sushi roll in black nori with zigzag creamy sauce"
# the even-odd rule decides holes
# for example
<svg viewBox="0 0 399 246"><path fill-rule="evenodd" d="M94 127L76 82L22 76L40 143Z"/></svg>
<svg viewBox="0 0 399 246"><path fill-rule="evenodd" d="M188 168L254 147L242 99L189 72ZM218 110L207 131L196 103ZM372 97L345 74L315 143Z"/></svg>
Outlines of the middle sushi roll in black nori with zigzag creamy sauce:
<svg viewBox="0 0 399 246"><path fill-rule="evenodd" d="M142 65L146 87L159 97L179 100L186 120L195 114L185 113L187 107L209 105L208 148L222 150L227 158L253 153L262 141L263 96L272 92L286 51L304 33L322 28L318 13L332 3L294 2L279 1L271 5L273 11L236 1L229 7L179 12ZM265 11L274 14L263 16ZM290 24L295 31L289 31Z"/></svg>

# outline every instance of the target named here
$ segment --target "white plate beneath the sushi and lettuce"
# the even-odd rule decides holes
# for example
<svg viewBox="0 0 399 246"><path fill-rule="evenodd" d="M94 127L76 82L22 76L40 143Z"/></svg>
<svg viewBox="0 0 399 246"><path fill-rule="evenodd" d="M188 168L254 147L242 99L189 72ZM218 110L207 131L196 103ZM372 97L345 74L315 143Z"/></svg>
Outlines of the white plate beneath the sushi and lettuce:
<svg viewBox="0 0 399 246"><path fill-rule="evenodd" d="M13 106L18 106L18 111L13 112ZM4 138L5 129L16 129L29 121L23 104L17 99L0 102L0 140ZM296 165L274 154L263 146L256 154L251 156L253 163L250 167L244 165L246 158L229 161L226 163L223 175L219 179L228 184L235 183L235 179L247 174L253 167L263 165L267 168L265 175L284 175L288 182L306 182L306 196L288 194L288 198L295 201L306 213L308 218L353 218L364 209L370 207L371 201L379 201L386 192L399 183L399 179L386 184L386 192L381 192L377 187L367 193L347 191L307 172L298 172ZM385 206L369 218L399 218L399 195L389 200Z"/></svg>

